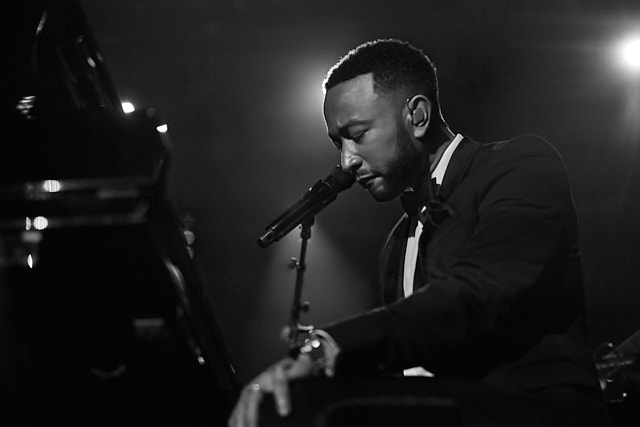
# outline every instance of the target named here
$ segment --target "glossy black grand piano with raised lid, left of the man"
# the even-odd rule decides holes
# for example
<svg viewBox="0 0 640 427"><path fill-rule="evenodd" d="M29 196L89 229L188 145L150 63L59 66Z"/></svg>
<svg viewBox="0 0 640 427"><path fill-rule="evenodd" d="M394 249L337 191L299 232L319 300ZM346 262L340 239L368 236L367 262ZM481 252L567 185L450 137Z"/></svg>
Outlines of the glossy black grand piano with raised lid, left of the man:
<svg viewBox="0 0 640 427"><path fill-rule="evenodd" d="M239 384L167 195L80 3L13 2L0 154L0 420L222 426Z"/></svg>

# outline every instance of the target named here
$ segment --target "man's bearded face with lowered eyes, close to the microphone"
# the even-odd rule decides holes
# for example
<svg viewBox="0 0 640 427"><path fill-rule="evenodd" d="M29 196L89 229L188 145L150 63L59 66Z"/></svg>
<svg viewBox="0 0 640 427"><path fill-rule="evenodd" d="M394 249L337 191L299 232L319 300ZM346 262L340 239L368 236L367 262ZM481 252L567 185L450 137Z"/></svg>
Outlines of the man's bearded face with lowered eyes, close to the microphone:
<svg viewBox="0 0 640 427"><path fill-rule="evenodd" d="M427 166L399 108L374 92L371 74L340 83L325 97L327 131L342 168L379 202L399 196Z"/></svg>

